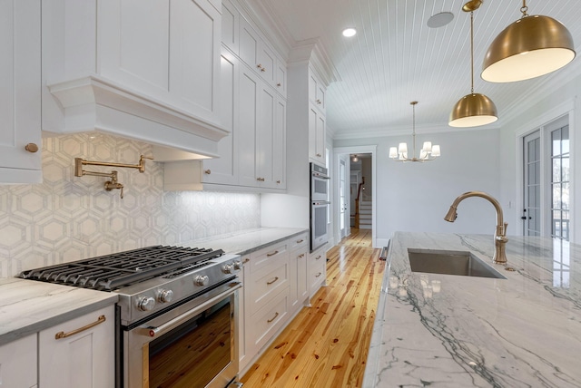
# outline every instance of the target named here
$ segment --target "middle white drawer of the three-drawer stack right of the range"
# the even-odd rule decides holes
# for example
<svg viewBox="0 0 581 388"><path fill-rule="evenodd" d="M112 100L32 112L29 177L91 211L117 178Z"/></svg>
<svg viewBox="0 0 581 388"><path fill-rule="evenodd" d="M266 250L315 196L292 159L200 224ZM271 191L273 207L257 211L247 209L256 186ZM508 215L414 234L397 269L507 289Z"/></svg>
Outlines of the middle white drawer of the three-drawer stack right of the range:
<svg viewBox="0 0 581 388"><path fill-rule="evenodd" d="M263 270L256 274L256 278L251 281L250 313L253 315L263 306L269 304L272 298L281 289L289 286L289 263L285 261L280 267L271 270Z"/></svg>

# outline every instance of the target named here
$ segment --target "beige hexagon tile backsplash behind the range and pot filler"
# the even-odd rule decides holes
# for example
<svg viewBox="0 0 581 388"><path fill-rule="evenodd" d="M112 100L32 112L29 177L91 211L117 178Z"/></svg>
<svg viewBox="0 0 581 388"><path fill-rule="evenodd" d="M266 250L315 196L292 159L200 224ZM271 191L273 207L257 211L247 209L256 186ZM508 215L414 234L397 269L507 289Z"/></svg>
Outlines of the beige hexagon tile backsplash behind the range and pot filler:
<svg viewBox="0 0 581 388"><path fill-rule="evenodd" d="M123 183L74 176L74 158L136 164L152 147L103 133L43 139L44 182L0 186L0 278L135 247L177 245L261 225L260 194L163 191L163 164L117 170Z"/></svg>

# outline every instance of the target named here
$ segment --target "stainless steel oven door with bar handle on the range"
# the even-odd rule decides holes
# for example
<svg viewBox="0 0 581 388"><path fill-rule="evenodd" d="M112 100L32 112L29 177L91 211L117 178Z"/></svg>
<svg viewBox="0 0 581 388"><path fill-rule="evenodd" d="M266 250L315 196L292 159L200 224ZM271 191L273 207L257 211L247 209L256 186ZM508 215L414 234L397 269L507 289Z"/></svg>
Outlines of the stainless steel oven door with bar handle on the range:
<svg viewBox="0 0 581 388"><path fill-rule="evenodd" d="M126 388L219 387L238 373L235 279L123 331Z"/></svg>

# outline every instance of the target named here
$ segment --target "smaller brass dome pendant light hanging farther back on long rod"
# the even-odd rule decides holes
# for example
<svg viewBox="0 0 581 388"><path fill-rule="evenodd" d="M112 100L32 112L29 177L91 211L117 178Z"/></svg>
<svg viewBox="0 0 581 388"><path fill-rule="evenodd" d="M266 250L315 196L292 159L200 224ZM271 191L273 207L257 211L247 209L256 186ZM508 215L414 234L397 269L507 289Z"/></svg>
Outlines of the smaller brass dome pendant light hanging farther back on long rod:
<svg viewBox="0 0 581 388"><path fill-rule="evenodd" d="M462 7L462 11L470 13L470 94L462 97L450 112L448 125L450 127L468 128L486 125L497 121L497 107L487 96L474 92L474 11L482 4L480 0L472 0Z"/></svg>

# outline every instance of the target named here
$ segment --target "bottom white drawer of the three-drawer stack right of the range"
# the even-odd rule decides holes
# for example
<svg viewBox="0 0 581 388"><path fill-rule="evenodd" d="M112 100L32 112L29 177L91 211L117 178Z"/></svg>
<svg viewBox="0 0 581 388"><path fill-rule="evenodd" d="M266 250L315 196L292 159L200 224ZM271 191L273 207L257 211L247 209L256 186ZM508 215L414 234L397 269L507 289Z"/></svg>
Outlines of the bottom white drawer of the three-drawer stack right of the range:
<svg viewBox="0 0 581 388"><path fill-rule="evenodd" d="M269 305L261 309L252 320L252 333L257 349L269 342L272 335L285 324L289 311L288 293L283 292Z"/></svg>

